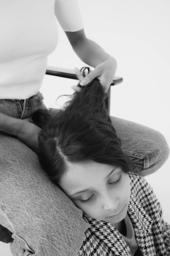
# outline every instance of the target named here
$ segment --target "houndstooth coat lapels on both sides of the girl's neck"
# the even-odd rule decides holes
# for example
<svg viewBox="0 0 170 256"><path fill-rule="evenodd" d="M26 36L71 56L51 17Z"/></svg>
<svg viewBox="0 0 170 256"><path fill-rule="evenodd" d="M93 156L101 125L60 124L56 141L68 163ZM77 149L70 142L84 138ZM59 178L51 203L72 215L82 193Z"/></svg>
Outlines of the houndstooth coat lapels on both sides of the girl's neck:
<svg viewBox="0 0 170 256"><path fill-rule="evenodd" d="M143 256L156 256L151 230L152 219L139 201L137 201L133 194L132 187L127 213L134 227L135 238ZM111 223L93 219L86 214L84 214L84 216L90 224L89 229L110 248L114 255L131 255L130 248L127 246L122 235ZM148 244L149 247L146 246L146 244ZM150 251L148 251L148 248Z"/></svg>

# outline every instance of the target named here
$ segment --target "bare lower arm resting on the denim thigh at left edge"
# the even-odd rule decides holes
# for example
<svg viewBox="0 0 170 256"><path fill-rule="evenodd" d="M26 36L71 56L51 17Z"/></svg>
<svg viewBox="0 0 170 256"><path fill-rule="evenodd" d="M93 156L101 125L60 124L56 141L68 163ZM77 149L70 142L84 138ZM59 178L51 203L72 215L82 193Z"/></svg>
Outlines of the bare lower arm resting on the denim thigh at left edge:
<svg viewBox="0 0 170 256"><path fill-rule="evenodd" d="M41 130L33 123L10 117L0 112L0 130L16 136L20 141L38 152L38 133Z"/></svg>

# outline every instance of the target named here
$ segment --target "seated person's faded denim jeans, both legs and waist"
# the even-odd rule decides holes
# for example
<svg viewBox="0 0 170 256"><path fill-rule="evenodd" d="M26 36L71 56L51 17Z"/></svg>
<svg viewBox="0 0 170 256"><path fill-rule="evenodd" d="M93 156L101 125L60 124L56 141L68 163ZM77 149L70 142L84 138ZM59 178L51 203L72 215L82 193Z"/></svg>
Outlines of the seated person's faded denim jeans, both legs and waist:
<svg viewBox="0 0 170 256"><path fill-rule="evenodd" d="M21 119L45 108L40 93L0 100L1 112ZM163 165L169 147L160 132L117 117L111 120L137 174L147 176ZM35 152L0 132L0 241L10 243L12 255L76 256L89 227L82 213L50 181Z"/></svg>

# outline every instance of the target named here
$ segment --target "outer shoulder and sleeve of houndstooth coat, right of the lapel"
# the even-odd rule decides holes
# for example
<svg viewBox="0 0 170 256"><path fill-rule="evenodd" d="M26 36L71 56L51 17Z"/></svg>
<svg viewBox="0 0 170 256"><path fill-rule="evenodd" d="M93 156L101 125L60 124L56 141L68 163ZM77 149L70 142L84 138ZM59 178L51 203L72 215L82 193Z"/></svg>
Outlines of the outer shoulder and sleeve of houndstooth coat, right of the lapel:
<svg viewBox="0 0 170 256"><path fill-rule="evenodd" d="M162 218L162 207L152 187L143 177L138 176L137 179L136 184L139 183L135 186L136 195L153 221L152 229L155 240L158 241L158 247L161 250L162 245L160 237L163 238L166 251L165 255L170 256L170 224L165 222Z"/></svg>

